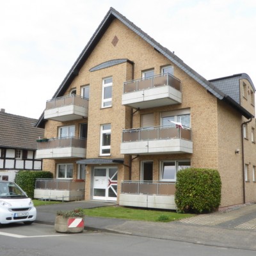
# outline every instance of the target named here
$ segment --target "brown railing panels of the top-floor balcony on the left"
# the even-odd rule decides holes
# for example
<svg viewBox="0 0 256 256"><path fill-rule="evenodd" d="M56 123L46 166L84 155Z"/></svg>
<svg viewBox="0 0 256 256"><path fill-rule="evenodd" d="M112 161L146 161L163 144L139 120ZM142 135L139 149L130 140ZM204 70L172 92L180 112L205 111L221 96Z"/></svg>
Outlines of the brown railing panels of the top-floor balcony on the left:
<svg viewBox="0 0 256 256"><path fill-rule="evenodd" d="M64 97L58 97L55 99L47 100L45 110L60 108L60 107L69 106L69 105L83 106L85 108L88 108L88 104L89 104L88 99L83 98L79 95L72 94Z"/></svg>

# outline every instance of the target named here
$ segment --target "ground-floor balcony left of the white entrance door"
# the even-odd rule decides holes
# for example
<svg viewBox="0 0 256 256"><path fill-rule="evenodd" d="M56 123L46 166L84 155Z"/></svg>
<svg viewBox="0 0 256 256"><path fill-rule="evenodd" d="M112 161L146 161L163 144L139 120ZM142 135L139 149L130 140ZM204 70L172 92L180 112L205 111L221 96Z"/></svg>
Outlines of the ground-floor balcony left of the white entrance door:
<svg viewBox="0 0 256 256"><path fill-rule="evenodd" d="M36 179L34 198L43 200L84 200L84 180Z"/></svg>

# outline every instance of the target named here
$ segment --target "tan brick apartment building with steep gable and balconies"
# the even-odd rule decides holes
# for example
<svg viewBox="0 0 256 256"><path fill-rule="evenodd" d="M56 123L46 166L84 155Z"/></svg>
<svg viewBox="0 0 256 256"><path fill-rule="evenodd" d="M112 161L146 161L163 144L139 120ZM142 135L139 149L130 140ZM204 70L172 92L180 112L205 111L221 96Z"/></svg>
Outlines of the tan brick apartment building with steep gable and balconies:
<svg viewBox="0 0 256 256"><path fill-rule="evenodd" d="M36 156L88 200L175 209L191 166L220 172L221 207L255 202L254 95L247 74L207 81L110 8L47 100Z"/></svg>

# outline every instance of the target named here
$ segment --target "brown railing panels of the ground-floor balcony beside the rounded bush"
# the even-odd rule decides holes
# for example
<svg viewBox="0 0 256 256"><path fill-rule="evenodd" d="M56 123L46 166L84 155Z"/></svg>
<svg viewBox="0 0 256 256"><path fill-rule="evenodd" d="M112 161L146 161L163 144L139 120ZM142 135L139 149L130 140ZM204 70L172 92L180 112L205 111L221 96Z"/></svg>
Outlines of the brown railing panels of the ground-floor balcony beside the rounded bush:
<svg viewBox="0 0 256 256"><path fill-rule="evenodd" d="M174 182L123 180L121 193L134 195L174 195Z"/></svg>

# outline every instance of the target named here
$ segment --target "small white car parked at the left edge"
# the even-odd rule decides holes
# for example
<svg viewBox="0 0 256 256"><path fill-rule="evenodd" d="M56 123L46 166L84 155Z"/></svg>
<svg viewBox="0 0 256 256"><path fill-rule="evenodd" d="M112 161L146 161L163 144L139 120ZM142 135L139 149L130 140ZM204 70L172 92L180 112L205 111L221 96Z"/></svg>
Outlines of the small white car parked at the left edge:
<svg viewBox="0 0 256 256"><path fill-rule="evenodd" d="M0 225L36 220L36 209L26 193L14 182L0 180Z"/></svg>

